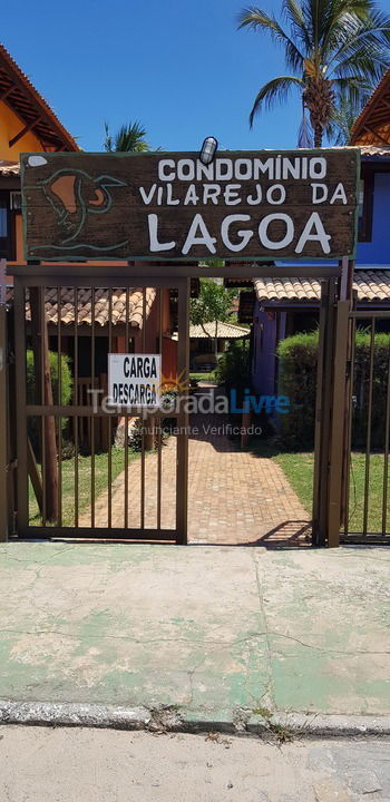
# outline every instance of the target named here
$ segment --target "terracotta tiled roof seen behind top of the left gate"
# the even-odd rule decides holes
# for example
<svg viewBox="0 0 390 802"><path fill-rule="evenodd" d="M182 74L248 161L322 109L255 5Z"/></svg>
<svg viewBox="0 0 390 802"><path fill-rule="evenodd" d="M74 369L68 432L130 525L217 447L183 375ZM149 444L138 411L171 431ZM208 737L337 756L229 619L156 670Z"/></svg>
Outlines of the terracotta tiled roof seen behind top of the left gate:
<svg viewBox="0 0 390 802"><path fill-rule="evenodd" d="M13 290L8 290L8 301L12 301ZM156 291L154 287L146 288L146 316L149 315L152 304L155 300ZM75 290L60 287L60 319L61 324L67 326L75 323ZM48 287L45 292L46 320L48 323L58 323L58 293L57 287ZM143 327L143 291L131 288L129 291L129 325L137 329ZM95 321L96 325L105 326L109 319L109 291L95 290ZM26 320L31 320L31 309L27 293L26 300ZM91 290L79 288L78 291L78 325L91 325L92 322L92 303ZM126 291L113 290L113 326L126 323Z"/></svg>

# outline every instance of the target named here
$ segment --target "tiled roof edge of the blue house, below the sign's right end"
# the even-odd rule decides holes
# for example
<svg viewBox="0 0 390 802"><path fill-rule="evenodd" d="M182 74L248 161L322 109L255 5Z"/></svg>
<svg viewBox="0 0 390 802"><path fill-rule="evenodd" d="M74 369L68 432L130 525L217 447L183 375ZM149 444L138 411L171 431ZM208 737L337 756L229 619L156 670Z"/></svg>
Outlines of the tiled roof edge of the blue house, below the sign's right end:
<svg viewBox="0 0 390 802"><path fill-rule="evenodd" d="M318 278L254 278L259 303L320 301L321 284ZM390 271L355 271L353 290L360 303L390 302Z"/></svg>

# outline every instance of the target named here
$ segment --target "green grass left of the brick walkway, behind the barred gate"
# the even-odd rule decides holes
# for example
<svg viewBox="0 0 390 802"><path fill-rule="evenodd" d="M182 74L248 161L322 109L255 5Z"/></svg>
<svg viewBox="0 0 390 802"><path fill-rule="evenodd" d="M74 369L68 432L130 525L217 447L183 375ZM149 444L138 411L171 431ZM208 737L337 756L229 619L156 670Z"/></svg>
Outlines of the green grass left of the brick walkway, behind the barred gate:
<svg viewBox="0 0 390 802"><path fill-rule="evenodd" d="M128 451L129 461L138 458L138 453ZM125 469L124 449L111 449L111 475L113 482ZM40 466L38 466L40 469ZM108 485L108 454L95 454L95 499L97 499ZM78 458L78 493L79 516L86 512L90 506L91 498L91 459L90 457ZM40 526L41 518L37 499L29 483L29 518L30 526ZM75 459L62 460L62 526L75 526Z"/></svg>

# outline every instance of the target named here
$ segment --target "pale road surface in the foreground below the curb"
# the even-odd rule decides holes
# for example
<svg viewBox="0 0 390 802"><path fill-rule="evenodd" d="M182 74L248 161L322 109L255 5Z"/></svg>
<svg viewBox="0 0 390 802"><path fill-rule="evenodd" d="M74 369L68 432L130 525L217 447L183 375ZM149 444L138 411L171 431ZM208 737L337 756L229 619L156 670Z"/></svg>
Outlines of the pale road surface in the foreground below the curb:
<svg viewBox="0 0 390 802"><path fill-rule="evenodd" d="M0 802L390 800L390 740L0 727Z"/></svg>

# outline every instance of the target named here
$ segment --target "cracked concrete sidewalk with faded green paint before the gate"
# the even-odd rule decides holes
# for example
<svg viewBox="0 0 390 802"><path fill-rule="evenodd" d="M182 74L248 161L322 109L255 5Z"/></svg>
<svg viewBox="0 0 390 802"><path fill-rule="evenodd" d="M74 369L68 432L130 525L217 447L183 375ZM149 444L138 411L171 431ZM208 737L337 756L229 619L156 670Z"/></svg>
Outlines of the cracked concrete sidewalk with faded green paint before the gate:
<svg viewBox="0 0 390 802"><path fill-rule="evenodd" d="M387 731L389 579L387 548L2 545L0 721L81 703L163 728L296 713Z"/></svg>

